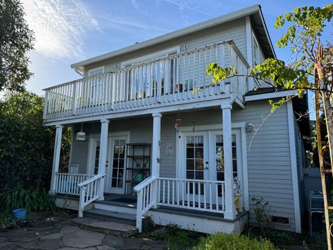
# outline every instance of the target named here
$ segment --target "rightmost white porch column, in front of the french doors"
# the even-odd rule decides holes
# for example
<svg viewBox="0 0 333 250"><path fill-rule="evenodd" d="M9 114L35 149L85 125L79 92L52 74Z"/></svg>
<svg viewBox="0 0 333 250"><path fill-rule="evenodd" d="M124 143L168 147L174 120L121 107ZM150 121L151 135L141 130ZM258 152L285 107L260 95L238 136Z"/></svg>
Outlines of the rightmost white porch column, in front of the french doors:
<svg viewBox="0 0 333 250"><path fill-rule="evenodd" d="M223 126L223 160L225 182L225 219L234 219L234 190L232 174L232 131L230 104L221 105Z"/></svg>

